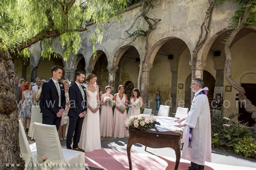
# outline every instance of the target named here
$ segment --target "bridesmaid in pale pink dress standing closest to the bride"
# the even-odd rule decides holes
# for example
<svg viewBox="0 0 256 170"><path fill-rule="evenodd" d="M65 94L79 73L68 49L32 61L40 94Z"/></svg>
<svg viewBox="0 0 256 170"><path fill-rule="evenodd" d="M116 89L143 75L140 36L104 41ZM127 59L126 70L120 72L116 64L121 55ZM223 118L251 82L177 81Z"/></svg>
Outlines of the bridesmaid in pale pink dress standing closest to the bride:
<svg viewBox="0 0 256 170"><path fill-rule="evenodd" d="M111 87L106 86L106 93L100 97L102 111L100 112L100 136L113 137L113 110L112 106L107 102L106 98L113 100L113 95L110 94Z"/></svg>

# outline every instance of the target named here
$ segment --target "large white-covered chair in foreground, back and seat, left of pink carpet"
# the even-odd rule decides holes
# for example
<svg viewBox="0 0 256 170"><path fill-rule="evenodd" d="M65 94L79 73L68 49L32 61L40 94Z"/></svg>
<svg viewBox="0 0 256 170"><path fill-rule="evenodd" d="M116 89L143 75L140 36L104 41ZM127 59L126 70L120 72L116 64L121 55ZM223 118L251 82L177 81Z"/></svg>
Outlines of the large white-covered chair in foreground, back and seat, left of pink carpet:
<svg viewBox="0 0 256 170"><path fill-rule="evenodd" d="M60 164L61 167L53 167L53 169L84 169L84 166L76 167L76 165L85 164L85 155L83 152L68 150L62 148L59 141L58 132L55 125L45 125L34 123L37 156L42 158L46 156L52 164ZM39 163L39 162L38 162ZM64 167L70 164L70 167ZM73 167L72 167L73 166Z"/></svg>

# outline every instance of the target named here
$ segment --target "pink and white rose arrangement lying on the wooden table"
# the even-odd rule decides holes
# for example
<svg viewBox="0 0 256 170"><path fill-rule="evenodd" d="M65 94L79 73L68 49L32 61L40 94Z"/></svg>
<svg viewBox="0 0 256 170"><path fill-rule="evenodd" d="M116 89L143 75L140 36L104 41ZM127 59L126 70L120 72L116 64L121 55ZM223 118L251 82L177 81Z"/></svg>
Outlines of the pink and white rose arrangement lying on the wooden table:
<svg viewBox="0 0 256 170"><path fill-rule="evenodd" d="M129 129L138 129L138 130L148 130L156 129L156 118L152 115L136 115L127 118L125 121L125 128Z"/></svg>

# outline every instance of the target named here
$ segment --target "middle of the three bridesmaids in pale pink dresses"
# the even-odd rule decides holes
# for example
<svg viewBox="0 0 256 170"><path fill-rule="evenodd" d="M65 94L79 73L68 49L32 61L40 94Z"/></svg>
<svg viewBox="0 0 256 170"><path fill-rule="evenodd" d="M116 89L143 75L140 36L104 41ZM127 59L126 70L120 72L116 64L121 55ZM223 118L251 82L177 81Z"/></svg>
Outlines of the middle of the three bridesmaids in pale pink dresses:
<svg viewBox="0 0 256 170"><path fill-rule="evenodd" d="M124 86L120 85L118 87L119 93L115 94L113 101L116 101L116 107L114 108L114 120L113 120L113 130L114 138L124 138L129 136L128 131L125 129L125 119L127 118L127 112L121 110L121 105L127 108L127 95L124 94Z"/></svg>

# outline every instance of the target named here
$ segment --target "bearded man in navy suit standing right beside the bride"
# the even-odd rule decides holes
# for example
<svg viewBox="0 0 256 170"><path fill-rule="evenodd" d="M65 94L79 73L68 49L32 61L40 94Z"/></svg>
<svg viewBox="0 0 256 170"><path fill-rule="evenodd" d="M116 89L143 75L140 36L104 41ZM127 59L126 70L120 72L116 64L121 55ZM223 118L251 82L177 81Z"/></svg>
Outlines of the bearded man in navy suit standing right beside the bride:
<svg viewBox="0 0 256 170"><path fill-rule="evenodd" d="M78 148L80 135L82 132L82 126L84 117L87 111L87 97L86 89L82 86L85 79L85 73L83 71L77 71L75 73L75 83L69 88L69 129L66 135L66 147L71 150L72 136L73 138L73 150L82 151Z"/></svg>

